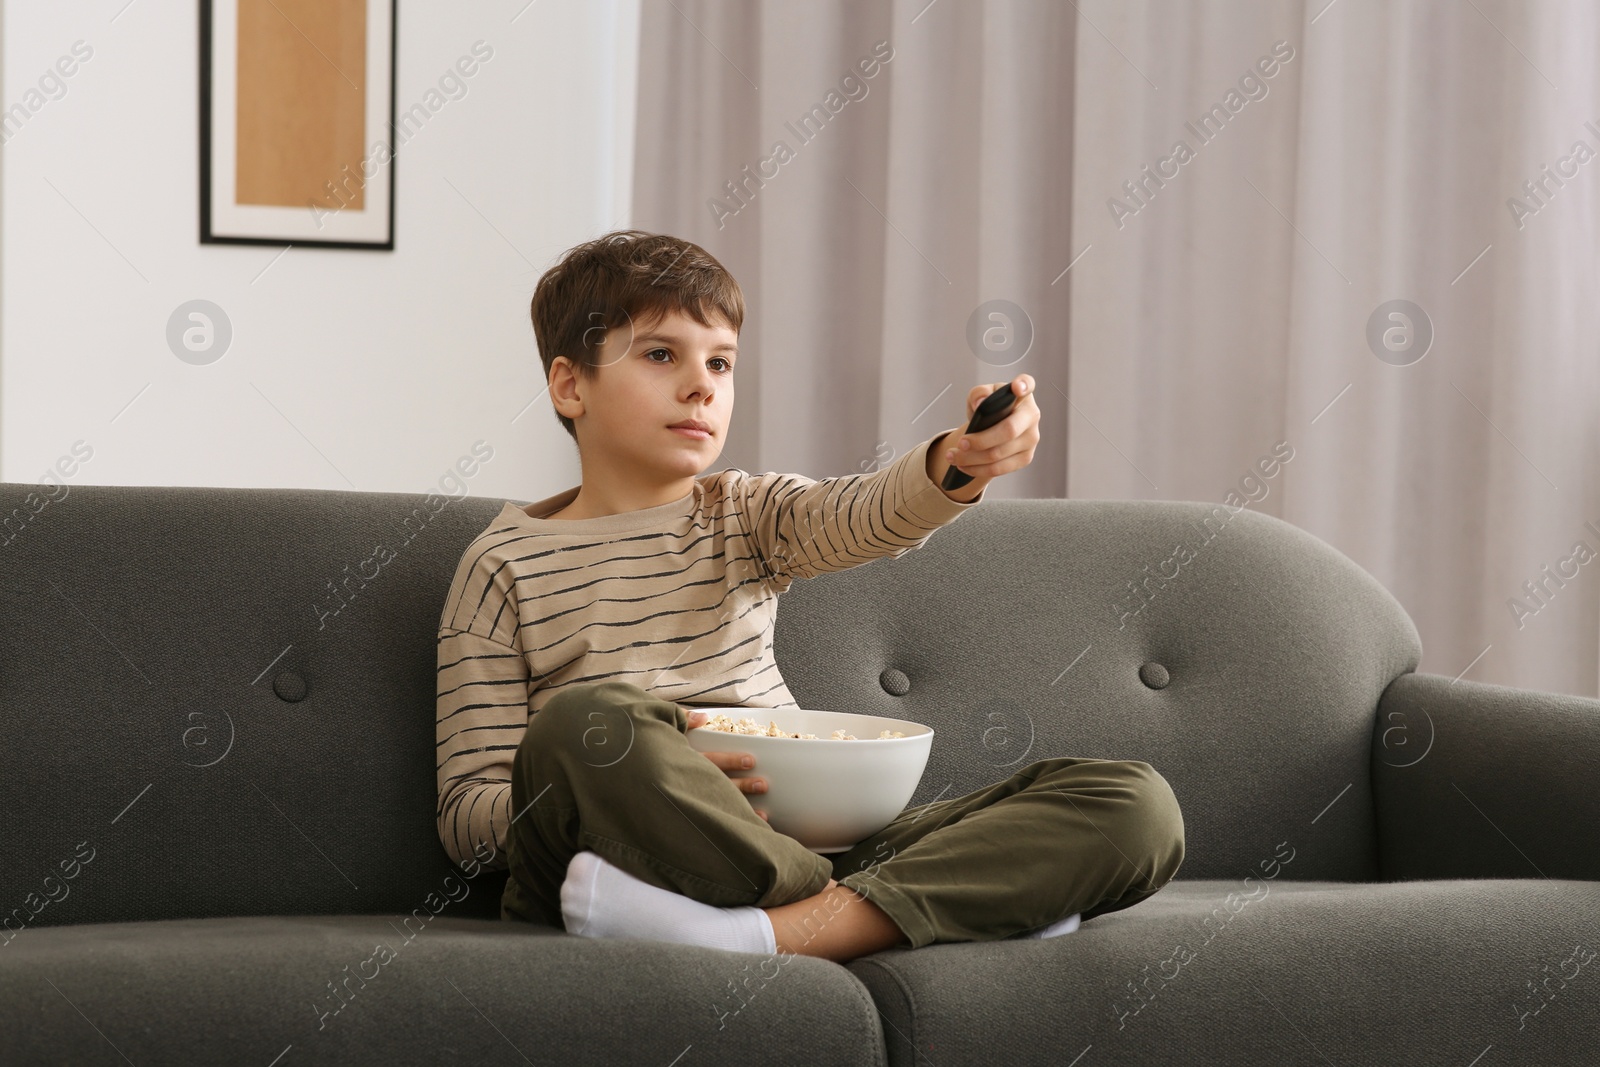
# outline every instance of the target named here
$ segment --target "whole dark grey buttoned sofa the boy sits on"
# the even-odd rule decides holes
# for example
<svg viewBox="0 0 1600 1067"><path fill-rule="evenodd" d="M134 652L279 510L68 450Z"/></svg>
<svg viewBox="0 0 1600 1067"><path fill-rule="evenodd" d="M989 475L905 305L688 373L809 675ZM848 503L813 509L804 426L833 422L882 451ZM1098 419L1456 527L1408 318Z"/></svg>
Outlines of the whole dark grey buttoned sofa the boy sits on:
<svg viewBox="0 0 1600 1067"><path fill-rule="evenodd" d="M1600 702L1414 673L1371 576L1200 502L992 501L774 638L802 704L936 728L914 803L1150 761L1155 897L845 966L499 921L434 635L501 504L0 485L0 1062L1600 1059Z"/></svg>

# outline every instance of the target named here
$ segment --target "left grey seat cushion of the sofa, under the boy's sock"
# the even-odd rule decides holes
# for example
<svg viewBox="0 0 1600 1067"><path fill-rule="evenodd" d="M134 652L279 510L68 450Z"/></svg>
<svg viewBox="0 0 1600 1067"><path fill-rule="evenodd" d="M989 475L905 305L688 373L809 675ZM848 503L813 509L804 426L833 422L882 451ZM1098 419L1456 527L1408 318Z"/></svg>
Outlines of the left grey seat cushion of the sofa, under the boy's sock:
<svg viewBox="0 0 1600 1067"><path fill-rule="evenodd" d="M24 929L0 945L0 1062L885 1062L837 963L402 918Z"/></svg>

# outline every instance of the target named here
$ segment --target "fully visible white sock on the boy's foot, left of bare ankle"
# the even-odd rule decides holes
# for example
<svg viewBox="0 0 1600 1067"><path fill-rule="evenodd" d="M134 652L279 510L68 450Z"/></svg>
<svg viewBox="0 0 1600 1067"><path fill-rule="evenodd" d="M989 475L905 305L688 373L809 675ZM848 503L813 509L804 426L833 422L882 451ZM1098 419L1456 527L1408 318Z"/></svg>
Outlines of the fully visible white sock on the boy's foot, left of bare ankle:
<svg viewBox="0 0 1600 1067"><path fill-rule="evenodd" d="M592 851L566 865L562 918L579 937L650 937L728 952L778 952L766 912L712 907L640 881Z"/></svg>

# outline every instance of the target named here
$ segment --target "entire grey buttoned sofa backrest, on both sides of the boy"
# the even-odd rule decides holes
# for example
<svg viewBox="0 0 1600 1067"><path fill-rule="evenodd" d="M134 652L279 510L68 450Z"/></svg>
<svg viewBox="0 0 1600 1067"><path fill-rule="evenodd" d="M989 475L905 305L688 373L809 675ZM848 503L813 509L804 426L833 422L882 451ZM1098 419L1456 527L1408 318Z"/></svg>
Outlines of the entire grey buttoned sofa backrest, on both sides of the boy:
<svg viewBox="0 0 1600 1067"><path fill-rule="evenodd" d="M0 483L0 920L496 917L504 875L467 883L435 832L434 645L502 504ZM1291 877L1352 880L1378 694L1419 656L1394 598L1288 523L1102 501L994 501L798 581L774 646L803 705L936 728L914 803L1050 755L1147 760L1184 803L1179 877L1288 841Z"/></svg>

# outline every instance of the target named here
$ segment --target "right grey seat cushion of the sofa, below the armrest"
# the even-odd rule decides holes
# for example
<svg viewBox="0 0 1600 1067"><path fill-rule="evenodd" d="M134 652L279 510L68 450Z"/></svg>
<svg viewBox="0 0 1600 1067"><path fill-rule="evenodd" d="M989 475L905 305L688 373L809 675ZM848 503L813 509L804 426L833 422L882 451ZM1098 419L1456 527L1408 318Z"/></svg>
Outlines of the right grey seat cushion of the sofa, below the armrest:
<svg viewBox="0 0 1600 1067"><path fill-rule="evenodd" d="M1594 881L1179 878L1061 937L848 966L891 1064L1581 1064L1597 949Z"/></svg>

